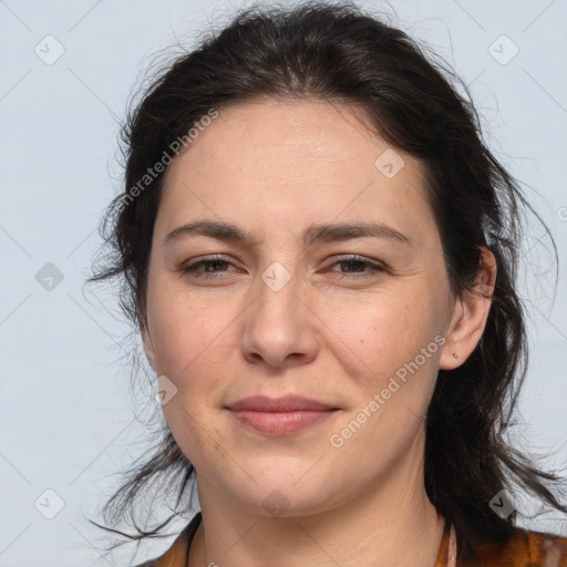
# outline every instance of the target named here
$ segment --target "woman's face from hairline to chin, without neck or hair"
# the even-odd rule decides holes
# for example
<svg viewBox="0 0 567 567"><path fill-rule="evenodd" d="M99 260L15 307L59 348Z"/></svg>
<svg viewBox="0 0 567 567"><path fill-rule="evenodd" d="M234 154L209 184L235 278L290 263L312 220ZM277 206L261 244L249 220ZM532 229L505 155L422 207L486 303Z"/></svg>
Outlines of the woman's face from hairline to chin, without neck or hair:
<svg viewBox="0 0 567 567"><path fill-rule="evenodd" d="M302 515L410 482L455 305L416 159L347 106L221 110L168 167L143 330L199 496ZM332 411L229 409L252 395Z"/></svg>

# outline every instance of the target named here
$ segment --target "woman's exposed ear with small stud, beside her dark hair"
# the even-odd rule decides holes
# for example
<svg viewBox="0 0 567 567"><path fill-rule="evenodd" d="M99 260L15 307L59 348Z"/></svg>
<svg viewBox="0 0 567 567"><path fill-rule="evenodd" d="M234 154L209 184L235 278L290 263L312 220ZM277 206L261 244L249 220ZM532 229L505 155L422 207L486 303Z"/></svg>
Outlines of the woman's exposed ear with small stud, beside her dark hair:
<svg viewBox="0 0 567 567"><path fill-rule="evenodd" d="M474 289L465 290L455 300L440 358L442 370L453 370L463 364L478 344L486 327L496 282L496 258L487 248L483 248L480 264Z"/></svg>

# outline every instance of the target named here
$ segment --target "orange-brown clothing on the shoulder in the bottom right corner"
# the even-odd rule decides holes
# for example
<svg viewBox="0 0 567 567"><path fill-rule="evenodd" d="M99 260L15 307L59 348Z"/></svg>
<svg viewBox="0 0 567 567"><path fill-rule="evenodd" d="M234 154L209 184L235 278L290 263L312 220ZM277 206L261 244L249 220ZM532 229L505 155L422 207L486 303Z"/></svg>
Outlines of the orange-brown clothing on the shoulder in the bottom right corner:
<svg viewBox="0 0 567 567"><path fill-rule="evenodd" d="M506 542L476 547L478 567L567 567L567 537L516 528Z"/></svg>

